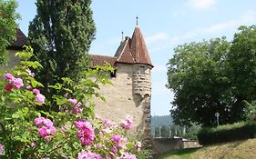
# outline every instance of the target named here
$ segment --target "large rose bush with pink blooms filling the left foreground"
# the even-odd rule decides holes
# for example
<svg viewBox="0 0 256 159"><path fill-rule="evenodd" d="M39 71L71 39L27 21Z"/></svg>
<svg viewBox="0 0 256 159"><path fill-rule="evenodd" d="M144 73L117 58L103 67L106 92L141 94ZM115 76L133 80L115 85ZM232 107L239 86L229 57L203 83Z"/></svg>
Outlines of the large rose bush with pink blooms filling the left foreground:
<svg viewBox="0 0 256 159"><path fill-rule="evenodd" d="M62 84L48 85L56 89L53 99L61 111L46 112L42 108L51 103L40 93L44 85L34 78L41 65L28 61L32 48L16 56L20 65L0 77L1 158L137 158L141 143L127 137L132 117L115 124L94 114L91 99L104 100L98 84L109 84L105 73L113 71L110 66L88 69L78 83L65 77Z"/></svg>

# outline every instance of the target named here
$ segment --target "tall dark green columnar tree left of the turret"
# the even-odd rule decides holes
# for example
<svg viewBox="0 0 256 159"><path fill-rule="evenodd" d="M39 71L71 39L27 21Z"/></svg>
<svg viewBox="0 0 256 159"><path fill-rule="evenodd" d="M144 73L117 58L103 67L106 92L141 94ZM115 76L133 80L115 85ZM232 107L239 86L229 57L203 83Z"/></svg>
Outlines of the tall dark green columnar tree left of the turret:
<svg viewBox="0 0 256 159"><path fill-rule="evenodd" d="M87 67L89 50L96 27L90 8L91 0L37 0L37 15L29 25L28 40L34 48L36 61L43 68L36 79L46 87L61 82L61 77L78 80Z"/></svg>

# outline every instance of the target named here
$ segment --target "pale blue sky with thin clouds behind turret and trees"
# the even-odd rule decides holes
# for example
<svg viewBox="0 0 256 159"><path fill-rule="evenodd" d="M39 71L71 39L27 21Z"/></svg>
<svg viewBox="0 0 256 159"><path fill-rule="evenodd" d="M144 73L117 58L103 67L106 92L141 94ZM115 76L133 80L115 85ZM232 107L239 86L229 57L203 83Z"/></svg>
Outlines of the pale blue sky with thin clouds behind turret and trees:
<svg viewBox="0 0 256 159"><path fill-rule="evenodd" d="M22 15L19 26L27 35L36 15L35 0L17 0ZM240 25L256 25L255 0L95 0L97 26L90 53L115 55L121 32L131 36L136 25L144 35L155 67L152 70L151 114L169 114L173 94L165 87L167 67L177 45L232 36Z"/></svg>

